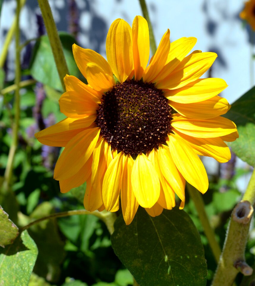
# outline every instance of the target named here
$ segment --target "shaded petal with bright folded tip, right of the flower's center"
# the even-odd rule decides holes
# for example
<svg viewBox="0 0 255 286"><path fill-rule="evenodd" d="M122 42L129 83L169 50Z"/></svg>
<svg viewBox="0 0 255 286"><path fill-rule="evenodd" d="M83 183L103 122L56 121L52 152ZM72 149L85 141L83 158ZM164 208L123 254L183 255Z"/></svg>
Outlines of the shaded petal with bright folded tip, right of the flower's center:
<svg viewBox="0 0 255 286"><path fill-rule="evenodd" d="M201 102L193 103L169 101L169 105L181 115L194 119L213 118L225 114L231 107L225 98L218 95Z"/></svg>

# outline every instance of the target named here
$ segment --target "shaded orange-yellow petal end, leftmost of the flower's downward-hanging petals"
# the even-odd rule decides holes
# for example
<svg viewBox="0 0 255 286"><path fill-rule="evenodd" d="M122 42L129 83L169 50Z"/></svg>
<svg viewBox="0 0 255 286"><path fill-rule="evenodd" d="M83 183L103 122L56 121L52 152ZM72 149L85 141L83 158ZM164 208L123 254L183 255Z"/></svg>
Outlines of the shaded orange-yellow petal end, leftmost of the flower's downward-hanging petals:
<svg viewBox="0 0 255 286"><path fill-rule="evenodd" d="M88 178L86 192L83 200L83 204L86 210L94 212L96 209L99 209L103 205L102 184L103 180L98 181L95 186L92 186L91 176Z"/></svg>

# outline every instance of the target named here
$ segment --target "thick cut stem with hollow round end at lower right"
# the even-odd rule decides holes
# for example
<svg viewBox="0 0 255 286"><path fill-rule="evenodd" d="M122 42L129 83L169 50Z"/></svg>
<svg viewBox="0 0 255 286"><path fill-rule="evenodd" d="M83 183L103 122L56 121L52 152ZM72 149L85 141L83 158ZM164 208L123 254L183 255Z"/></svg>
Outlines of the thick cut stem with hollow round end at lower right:
<svg viewBox="0 0 255 286"><path fill-rule="evenodd" d="M255 169L241 200L234 208L223 251L215 272L212 286L231 286L238 272L251 275L252 268L245 262L245 247L249 235L252 205L255 202Z"/></svg>

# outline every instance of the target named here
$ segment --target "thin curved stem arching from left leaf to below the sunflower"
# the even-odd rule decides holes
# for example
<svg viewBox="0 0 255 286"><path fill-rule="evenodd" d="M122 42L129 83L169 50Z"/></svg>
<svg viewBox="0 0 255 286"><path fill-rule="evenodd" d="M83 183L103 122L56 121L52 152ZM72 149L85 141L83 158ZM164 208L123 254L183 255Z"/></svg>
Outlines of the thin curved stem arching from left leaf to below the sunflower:
<svg viewBox="0 0 255 286"><path fill-rule="evenodd" d="M103 222L106 224L107 229L109 231L110 234L113 234L114 232L114 221L116 220L116 214L113 212L107 212L107 211L102 211L102 212L98 212L98 211L94 211L94 212L89 212L86 209L76 209L73 211L67 211L67 212L57 212L55 214L52 215L48 215L46 217L41 217L38 220L34 220L31 223L29 223L26 226L23 226L20 229L20 232L22 232L25 229L28 229L29 227L40 223L43 220L50 220L53 218L57 218L57 217L67 217L70 215L95 215L96 217L100 218L101 220L103 220Z"/></svg>

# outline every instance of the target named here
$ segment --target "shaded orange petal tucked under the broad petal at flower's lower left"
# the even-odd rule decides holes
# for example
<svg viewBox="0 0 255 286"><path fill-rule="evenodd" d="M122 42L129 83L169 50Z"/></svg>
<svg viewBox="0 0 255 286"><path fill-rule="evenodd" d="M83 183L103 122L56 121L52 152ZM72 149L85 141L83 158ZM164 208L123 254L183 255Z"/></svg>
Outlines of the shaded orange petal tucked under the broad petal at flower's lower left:
<svg viewBox="0 0 255 286"><path fill-rule="evenodd" d="M92 155L89 157L88 161L81 167L75 175L72 177L59 181L60 192L67 193L70 189L81 186L87 181L91 175L91 164L92 164ZM85 192L85 189L84 189Z"/></svg>

